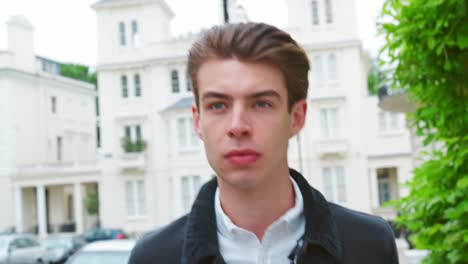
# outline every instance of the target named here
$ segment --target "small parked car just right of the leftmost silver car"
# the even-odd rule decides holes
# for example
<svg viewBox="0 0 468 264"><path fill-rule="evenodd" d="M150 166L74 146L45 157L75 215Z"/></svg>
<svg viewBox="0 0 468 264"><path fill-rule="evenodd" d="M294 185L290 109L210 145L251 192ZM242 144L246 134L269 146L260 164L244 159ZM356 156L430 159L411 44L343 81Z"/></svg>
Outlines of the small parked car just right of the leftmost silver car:
<svg viewBox="0 0 468 264"><path fill-rule="evenodd" d="M46 258L50 264L63 264L67 259L86 244L80 236L73 234L49 235L42 240L47 250Z"/></svg>

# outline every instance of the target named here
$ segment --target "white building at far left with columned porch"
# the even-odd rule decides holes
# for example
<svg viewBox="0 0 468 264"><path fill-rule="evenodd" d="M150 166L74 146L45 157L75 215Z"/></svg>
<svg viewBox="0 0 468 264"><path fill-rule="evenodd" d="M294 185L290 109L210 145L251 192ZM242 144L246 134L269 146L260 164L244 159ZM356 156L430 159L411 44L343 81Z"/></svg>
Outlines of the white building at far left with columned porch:
<svg viewBox="0 0 468 264"><path fill-rule="evenodd" d="M94 86L58 75L33 52L33 27L7 23L0 51L0 231L45 235L96 221L85 210L97 188Z"/></svg>

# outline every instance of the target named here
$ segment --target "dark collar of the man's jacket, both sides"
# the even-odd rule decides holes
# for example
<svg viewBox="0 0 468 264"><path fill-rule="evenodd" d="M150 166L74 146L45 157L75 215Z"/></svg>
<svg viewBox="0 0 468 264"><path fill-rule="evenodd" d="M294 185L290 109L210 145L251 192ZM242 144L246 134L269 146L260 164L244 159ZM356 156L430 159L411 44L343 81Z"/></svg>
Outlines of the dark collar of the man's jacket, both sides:
<svg viewBox="0 0 468 264"><path fill-rule="evenodd" d="M342 247L328 202L323 195L312 188L297 171L290 169L304 200L306 220L304 239L309 245L325 249L331 256L341 260ZM182 249L182 263L206 263L207 260L224 263L219 253L214 210L216 178L201 188L187 218L187 233Z"/></svg>

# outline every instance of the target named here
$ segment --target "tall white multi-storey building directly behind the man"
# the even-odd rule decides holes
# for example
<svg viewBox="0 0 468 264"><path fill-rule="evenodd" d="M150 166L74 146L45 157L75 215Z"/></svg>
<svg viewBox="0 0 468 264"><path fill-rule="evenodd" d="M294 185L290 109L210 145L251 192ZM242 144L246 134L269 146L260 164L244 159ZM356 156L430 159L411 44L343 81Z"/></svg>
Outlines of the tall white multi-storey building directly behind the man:
<svg viewBox="0 0 468 264"><path fill-rule="evenodd" d="M391 220L395 212L382 204L411 177L409 132L403 115L380 111L368 96L355 3L287 4L286 30L312 63L308 120L290 142L291 166L330 201ZM145 232L188 212L214 176L192 128L186 61L195 36L171 36L174 14L164 0L101 0L93 8L106 157L100 217L103 226ZM139 151L126 152L124 138L127 150Z"/></svg>

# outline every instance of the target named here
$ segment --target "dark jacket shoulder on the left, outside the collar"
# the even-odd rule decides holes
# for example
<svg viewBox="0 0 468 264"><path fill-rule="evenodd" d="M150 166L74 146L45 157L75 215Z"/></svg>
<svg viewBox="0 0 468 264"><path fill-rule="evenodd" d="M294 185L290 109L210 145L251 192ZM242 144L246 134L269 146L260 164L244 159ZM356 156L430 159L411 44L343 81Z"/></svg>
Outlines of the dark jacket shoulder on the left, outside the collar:
<svg viewBox="0 0 468 264"><path fill-rule="evenodd" d="M181 256L187 216L144 235L132 250L129 264L177 263Z"/></svg>

